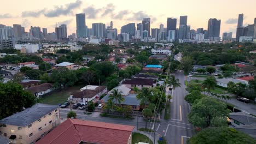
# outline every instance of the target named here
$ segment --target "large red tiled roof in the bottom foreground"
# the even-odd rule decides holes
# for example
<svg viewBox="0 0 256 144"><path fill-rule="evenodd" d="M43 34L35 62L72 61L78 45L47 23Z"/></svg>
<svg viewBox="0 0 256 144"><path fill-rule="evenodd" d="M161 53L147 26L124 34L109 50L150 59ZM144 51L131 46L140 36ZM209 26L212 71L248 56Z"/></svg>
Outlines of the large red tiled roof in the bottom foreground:
<svg viewBox="0 0 256 144"><path fill-rule="evenodd" d="M37 144L130 144L134 128L130 125L67 119Z"/></svg>

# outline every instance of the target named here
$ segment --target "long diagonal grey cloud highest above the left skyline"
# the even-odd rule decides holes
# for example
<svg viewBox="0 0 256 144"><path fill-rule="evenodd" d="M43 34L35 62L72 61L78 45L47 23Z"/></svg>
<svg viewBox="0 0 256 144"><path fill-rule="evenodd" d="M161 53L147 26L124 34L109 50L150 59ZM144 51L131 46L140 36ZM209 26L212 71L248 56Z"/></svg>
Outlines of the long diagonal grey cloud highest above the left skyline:
<svg viewBox="0 0 256 144"><path fill-rule="evenodd" d="M62 5L60 7L56 6L55 9L46 11L44 15L46 17L57 17L60 15L68 15L73 13L74 9L79 8L81 4L82 4L82 1L77 0L74 3L66 4L65 7L63 7Z"/></svg>

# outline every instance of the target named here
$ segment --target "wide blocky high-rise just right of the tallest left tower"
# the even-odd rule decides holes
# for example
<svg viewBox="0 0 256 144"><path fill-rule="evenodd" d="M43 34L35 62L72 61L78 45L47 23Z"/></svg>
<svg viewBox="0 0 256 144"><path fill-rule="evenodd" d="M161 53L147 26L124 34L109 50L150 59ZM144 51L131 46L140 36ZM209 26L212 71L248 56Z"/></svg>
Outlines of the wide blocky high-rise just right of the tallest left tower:
<svg viewBox="0 0 256 144"><path fill-rule="evenodd" d="M106 33L106 26L104 23L92 23L92 35L96 38L104 38Z"/></svg>

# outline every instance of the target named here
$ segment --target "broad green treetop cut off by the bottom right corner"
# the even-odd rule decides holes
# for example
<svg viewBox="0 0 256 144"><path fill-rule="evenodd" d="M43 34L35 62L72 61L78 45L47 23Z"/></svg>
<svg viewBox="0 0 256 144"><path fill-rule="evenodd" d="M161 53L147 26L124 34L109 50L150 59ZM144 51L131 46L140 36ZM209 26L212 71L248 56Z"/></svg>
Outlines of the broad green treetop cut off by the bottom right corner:
<svg viewBox="0 0 256 144"><path fill-rule="evenodd" d="M210 127L201 130L188 140L189 144L205 144L205 143L236 143L236 144L253 144L256 140L253 137L228 127Z"/></svg>

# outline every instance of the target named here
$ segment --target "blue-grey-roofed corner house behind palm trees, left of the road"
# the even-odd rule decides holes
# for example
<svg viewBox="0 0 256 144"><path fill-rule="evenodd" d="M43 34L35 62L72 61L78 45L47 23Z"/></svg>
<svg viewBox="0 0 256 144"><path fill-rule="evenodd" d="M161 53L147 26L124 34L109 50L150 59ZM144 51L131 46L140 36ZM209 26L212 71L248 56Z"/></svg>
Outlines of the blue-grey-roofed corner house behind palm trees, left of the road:
<svg viewBox="0 0 256 144"><path fill-rule="evenodd" d="M109 96L111 94L107 94L105 97L103 97L101 99L101 103L107 103L107 101L109 100ZM137 94L128 94L126 96L124 96L124 101L121 101L121 103L118 103L119 105L122 106L131 106L132 110L139 110L141 109L140 104L141 104L141 100L136 98ZM115 103L115 100L113 100L113 103Z"/></svg>

